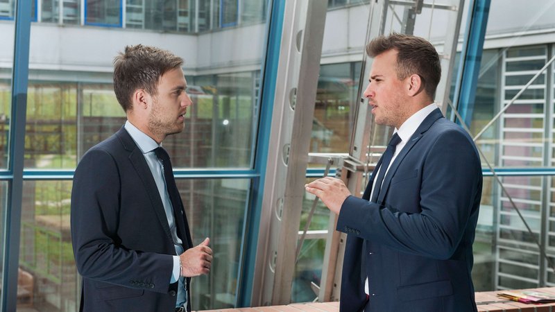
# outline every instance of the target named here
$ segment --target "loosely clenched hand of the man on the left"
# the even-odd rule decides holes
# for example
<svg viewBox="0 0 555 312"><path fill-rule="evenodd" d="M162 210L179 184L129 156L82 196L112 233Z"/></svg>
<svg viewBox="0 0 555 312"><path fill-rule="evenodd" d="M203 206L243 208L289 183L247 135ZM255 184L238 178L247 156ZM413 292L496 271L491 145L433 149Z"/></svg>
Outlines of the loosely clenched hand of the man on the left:
<svg viewBox="0 0 555 312"><path fill-rule="evenodd" d="M212 248L208 247L210 239L206 238L194 248L189 248L180 254L181 276L194 277L208 274L212 266Z"/></svg>

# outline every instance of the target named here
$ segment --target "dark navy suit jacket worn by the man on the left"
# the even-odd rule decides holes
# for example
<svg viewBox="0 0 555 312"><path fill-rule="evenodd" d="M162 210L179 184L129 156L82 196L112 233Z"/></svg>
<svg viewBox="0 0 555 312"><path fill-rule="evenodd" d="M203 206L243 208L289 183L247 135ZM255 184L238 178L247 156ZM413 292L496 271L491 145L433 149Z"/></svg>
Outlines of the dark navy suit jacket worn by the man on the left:
<svg viewBox="0 0 555 312"><path fill-rule="evenodd" d="M187 250L192 243L182 204L174 216L185 221L178 233ZM80 311L175 311L178 283L169 282L176 250L168 220L151 170L125 128L79 162L71 236L83 276Z"/></svg>

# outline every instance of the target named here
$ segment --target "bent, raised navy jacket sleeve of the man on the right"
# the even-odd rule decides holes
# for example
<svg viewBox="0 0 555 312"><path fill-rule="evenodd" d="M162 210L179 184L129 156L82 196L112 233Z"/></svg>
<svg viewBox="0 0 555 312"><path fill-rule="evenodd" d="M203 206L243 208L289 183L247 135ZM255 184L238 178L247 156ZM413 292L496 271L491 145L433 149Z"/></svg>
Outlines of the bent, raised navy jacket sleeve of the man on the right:
<svg viewBox="0 0 555 312"><path fill-rule="evenodd" d="M413 149L410 153L427 154L421 180L414 182L415 187L420 185L420 198L404 201L418 202L419 207L391 209L387 197L384 207L349 196L341 207L336 229L402 252L450 259L477 220L481 198L479 157L470 138L460 131L444 132L427 150ZM388 192L392 187L395 185ZM402 192L395 190L395 196ZM471 223L474 227L467 227Z"/></svg>

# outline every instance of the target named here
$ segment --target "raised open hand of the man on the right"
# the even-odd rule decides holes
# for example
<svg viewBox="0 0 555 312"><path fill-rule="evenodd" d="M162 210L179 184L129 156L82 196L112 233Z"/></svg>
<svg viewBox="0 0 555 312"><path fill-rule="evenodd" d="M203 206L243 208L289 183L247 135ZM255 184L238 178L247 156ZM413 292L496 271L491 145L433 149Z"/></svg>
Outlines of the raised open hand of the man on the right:
<svg viewBox="0 0 555 312"><path fill-rule="evenodd" d="M351 195L343 181L336 177L323 177L305 184L307 192L318 196L335 214L339 214L345 198Z"/></svg>

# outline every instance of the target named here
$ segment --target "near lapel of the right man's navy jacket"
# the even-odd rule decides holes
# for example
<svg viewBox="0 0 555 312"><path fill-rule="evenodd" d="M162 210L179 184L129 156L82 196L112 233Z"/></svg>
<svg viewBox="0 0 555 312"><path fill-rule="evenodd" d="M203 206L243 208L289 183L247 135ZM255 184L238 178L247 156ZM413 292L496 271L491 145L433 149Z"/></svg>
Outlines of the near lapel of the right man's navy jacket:
<svg viewBox="0 0 555 312"><path fill-rule="evenodd" d="M389 188L389 184L391 184L391 178L393 178L393 175L395 175L395 171L397 171L397 168L399 168L399 164L402 162L404 157L407 156L407 154L409 154L413 146L415 146L416 143L422 137L422 135L424 135L424 132L426 132L430 127L432 127L432 125L438 119L442 117L443 117L443 114L441 114L441 110L439 110L439 108L436 108L436 110L433 110L431 113L429 113L429 115L426 116L424 121L420 123L420 125L418 126L418 128L416 129L412 137L409 139L407 144L404 145L399 155L395 157L395 160L389 167L389 170L387 171L387 174L384 177L384 182L382 183L382 191L379 192L377 202L384 202L384 198L387 194L387 189Z"/></svg>

